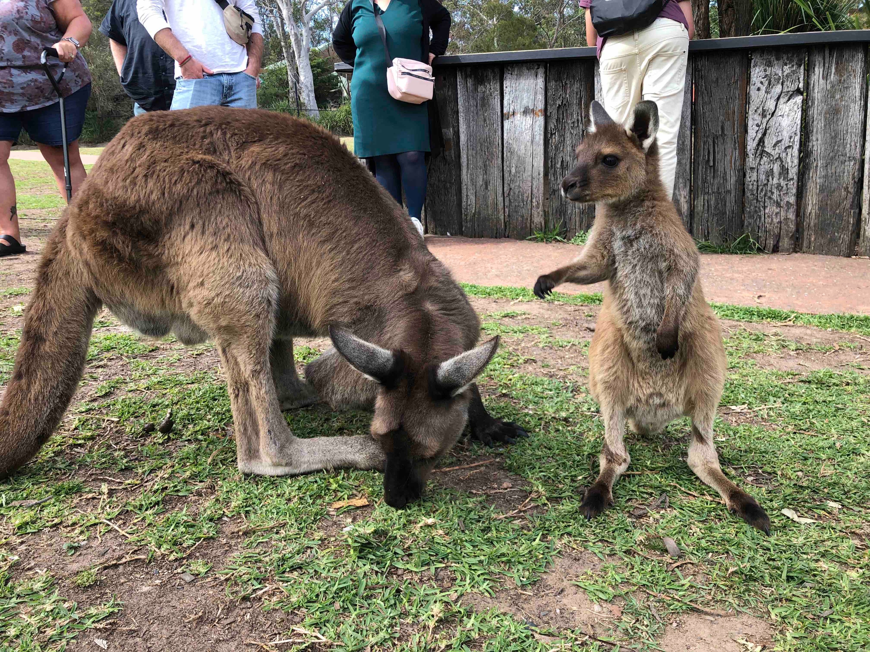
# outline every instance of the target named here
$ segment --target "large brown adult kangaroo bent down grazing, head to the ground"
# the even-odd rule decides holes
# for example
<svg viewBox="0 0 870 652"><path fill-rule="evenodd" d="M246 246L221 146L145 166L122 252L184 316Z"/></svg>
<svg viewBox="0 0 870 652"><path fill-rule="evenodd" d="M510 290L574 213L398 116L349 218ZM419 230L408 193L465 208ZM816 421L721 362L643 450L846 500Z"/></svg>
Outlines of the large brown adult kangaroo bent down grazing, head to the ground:
<svg viewBox="0 0 870 652"><path fill-rule="evenodd" d="M220 107L134 118L64 211L39 263L0 405L0 476L57 427L97 309L147 336L215 342L238 469L384 469L393 507L421 496L466 420L492 445L473 380L498 347L410 220L338 138L305 120ZM334 349L293 364L293 336ZM313 387L312 387L313 385ZM284 409L321 396L374 409L371 436L298 439Z"/></svg>

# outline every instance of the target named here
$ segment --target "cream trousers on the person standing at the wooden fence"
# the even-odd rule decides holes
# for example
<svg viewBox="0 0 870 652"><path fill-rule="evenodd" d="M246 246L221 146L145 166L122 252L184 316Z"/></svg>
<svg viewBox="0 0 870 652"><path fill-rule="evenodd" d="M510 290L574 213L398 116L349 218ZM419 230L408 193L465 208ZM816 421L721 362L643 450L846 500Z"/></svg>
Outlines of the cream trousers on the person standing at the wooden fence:
<svg viewBox="0 0 870 652"><path fill-rule="evenodd" d="M659 169L668 196L677 170L677 134L686 86L689 33L657 18L645 30L610 37L601 50L601 93L607 113L625 124L641 100L659 105Z"/></svg>

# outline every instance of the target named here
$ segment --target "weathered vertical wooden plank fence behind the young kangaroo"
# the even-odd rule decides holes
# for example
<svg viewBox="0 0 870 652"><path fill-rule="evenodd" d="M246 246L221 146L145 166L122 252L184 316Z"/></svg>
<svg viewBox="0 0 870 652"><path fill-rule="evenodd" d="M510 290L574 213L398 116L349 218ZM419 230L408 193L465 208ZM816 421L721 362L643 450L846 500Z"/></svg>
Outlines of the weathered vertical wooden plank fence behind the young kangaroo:
<svg viewBox="0 0 870 652"><path fill-rule="evenodd" d="M690 43L673 200L696 239L870 256L868 43L870 30ZM594 49L436 63L445 153L427 231L588 230L594 207L568 203L559 183L600 94Z"/></svg>

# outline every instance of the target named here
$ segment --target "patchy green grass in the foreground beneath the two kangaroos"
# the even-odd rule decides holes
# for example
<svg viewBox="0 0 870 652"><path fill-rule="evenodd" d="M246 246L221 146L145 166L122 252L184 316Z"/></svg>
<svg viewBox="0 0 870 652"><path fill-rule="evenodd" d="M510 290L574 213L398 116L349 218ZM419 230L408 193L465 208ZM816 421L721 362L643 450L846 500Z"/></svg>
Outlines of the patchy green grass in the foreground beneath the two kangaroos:
<svg viewBox="0 0 870 652"><path fill-rule="evenodd" d="M464 287L472 296L531 300L525 289ZM583 302L566 295L552 301L599 299L587 296ZM726 308L735 309L717 309ZM743 321L777 321L766 314L740 314ZM478 594L534 590L557 556L578 550L606 563L598 572L574 578L576 584L592 600L624 601L607 635L620 649L657 649L667 622L692 611L686 602L766 619L773 625L775 649L870 648L870 378L841 369L805 374L760 369L746 356L807 347L789 340L787 330L785 335L735 330L726 343L733 364L722 404L745 405L756 418L734 425L717 419L717 442L726 474L771 515L773 536L729 516L713 490L693 476L683 459L685 421L658 436L632 439L630 470L649 472L620 479L616 505L586 522L579 514L581 488L597 472L603 433L596 404L586 383L520 371L520 365L529 369L528 359L514 349L520 340L513 336L532 336L553 349L583 347L587 340L556 338L555 322L505 323L523 316L516 306L505 306L483 317L485 329L509 335L482 378L485 402L495 416L517 420L532 433L526 442L494 452L505 469L535 491L536 509L518 518L503 518L487 496L434 482L423 502L396 511L383 502L382 477L374 472L241 476L225 436L230 401L217 369L180 372L172 365L177 356L190 356L188 351L172 348L167 353L175 357L143 359L157 345L128 334L97 334L86 380L99 369L93 365L112 359L126 364L124 373L103 384L124 391L71 406L74 418L66 427L34 462L0 484L0 649L62 649L76 635L90 644L93 633L81 632L124 615L117 598L96 590L93 607L70 602L65 585L50 572L23 572L23 560L8 544L10 537L20 542L49 531L62 533L74 558L81 542L110 531L104 521L122 527L131 537L129 545L144 546L142 554L147 551L151 559L174 560L191 575L220 578L233 599L277 586L267 602L255 602L256 608L292 611L298 627L329 641L321 647L340 652L545 652L557 647L536 635L559 635L565 649L611 649L584 642L582 629L559 633L472 607ZM16 346L15 335L0 339L0 363L10 360ZM299 346L295 353L300 361L310 360L317 350ZM142 433L144 423L159 422L170 408L176 422L171 434ZM117 419L111 436L107 417ZM298 436L307 437L364 433L371 417L303 409L286 419ZM84 453L69 456L70 449ZM476 446L472 453L493 455ZM448 456L443 465L456 463L463 462ZM83 507L77 502L81 496L101 491L103 481L82 474L93 469L101 476L129 478L131 490L106 492ZM760 471L769 477L764 486L746 484L746 476ZM653 518L628 517L634 506L662 493L669 496L669 509ZM366 496L372 507L331 515L332 502L354 496ZM11 506L45 498L32 507ZM841 509L831 508L832 502ZM780 514L784 508L818 522L792 522ZM351 516L355 521L349 523ZM247 530L234 537L229 557L185 556L198 542L218 536L224 519ZM693 564L671 569L659 561L662 536L673 537L684 560ZM447 579L436 579L435 573ZM70 582L87 587L100 578L98 569L86 569Z"/></svg>

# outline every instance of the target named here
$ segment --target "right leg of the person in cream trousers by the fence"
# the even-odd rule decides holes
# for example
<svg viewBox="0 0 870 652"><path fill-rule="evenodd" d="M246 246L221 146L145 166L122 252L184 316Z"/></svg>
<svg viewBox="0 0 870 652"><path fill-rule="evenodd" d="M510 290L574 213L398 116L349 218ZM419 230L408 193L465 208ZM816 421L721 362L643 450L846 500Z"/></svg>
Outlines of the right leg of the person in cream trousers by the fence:
<svg viewBox="0 0 870 652"><path fill-rule="evenodd" d="M643 99L659 107L659 174L667 196L677 173L677 136L683 113L689 34L673 20L659 19L640 32Z"/></svg>

